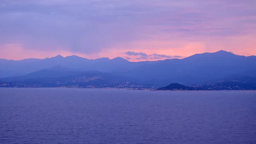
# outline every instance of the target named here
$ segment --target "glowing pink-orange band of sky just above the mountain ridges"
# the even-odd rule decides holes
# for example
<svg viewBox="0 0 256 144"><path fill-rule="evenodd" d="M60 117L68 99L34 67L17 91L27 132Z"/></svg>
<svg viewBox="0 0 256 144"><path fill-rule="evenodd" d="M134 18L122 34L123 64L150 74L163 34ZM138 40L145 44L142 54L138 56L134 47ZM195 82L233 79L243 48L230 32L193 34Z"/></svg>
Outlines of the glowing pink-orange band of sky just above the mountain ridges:
<svg viewBox="0 0 256 144"><path fill-rule="evenodd" d="M244 41L246 43L244 43ZM179 55L182 58L186 58L188 56L194 55L196 53L204 53L204 52L216 52L219 50L225 50L228 52L233 52L236 55L256 55L256 41L253 40L253 37L232 37L230 41L226 41L224 43L212 43L212 45L207 45L204 42L175 42L174 45L180 43L180 46L172 47L173 43L166 41L145 41L145 42L136 42L131 43L130 45L133 47L140 47L140 49L131 49L130 46L120 46L116 48L108 48L102 49L99 53L92 53L90 55L82 52L70 52L64 50L33 50L26 49L22 45L19 44L5 44L2 45L3 49L1 49L0 58L9 59L9 60L22 60L26 58L51 58L56 55L62 55L64 57L70 55L78 55L83 58L88 59L96 59L102 57L108 58L116 58L118 56L125 58L132 58L129 61L144 61L144 60L136 60L138 56L128 56L125 55L124 52L132 51L132 52L145 52L148 55L153 53L157 53L160 55ZM227 48L227 45L230 46ZM171 48L170 48L171 47ZM53 48L54 49L54 48ZM166 58L162 58L163 60ZM156 59L147 59L147 60L156 60Z"/></svg>

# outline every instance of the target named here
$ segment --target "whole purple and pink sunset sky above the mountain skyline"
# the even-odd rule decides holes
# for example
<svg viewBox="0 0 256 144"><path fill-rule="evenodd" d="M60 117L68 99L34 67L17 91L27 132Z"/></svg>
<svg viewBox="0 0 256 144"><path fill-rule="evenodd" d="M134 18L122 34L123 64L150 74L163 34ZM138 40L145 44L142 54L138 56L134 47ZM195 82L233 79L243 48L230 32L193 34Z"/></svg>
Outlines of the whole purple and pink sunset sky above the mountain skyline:
<svg viewBox="0 0 256 144"><path fill-rule="evenodd" d="M256 0L0 0L0 58L256 55Z"/></svg>

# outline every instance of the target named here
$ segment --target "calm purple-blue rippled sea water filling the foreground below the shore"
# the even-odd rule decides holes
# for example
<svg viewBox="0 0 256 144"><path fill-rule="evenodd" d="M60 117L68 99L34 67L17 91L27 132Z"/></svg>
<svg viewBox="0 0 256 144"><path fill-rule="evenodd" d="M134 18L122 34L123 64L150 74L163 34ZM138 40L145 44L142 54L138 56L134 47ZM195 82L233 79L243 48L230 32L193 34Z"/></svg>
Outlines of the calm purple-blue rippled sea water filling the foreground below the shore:
<svg viewBox="0 0 256 144"><path fill-rule="evenodd" d="M0 143L256 144L256 92L1 88Z"/></svg>

